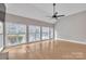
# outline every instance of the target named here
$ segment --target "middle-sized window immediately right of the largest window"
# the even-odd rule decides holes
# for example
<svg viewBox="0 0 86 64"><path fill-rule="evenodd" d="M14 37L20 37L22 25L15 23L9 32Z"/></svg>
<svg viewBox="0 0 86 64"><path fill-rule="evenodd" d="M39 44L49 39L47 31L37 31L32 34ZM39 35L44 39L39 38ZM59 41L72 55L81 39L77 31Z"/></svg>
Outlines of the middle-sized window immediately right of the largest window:
<svg viewBox="0 0 86 64"><path fill-rule="evenodd" d="M29 42L40 40L40 26L29 25Z"/></svg>

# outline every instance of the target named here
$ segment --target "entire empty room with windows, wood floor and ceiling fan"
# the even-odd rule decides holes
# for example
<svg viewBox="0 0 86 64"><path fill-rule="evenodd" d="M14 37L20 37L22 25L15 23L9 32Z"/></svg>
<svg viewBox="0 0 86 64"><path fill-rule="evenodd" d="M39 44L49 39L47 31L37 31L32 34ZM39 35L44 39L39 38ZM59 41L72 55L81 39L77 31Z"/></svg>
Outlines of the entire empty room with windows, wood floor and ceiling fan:
<svg viewBox="0 0 86 64"><path fill-rule="evenodd" d="M85 60L86 3L0 3L0 60Z"/></svg>

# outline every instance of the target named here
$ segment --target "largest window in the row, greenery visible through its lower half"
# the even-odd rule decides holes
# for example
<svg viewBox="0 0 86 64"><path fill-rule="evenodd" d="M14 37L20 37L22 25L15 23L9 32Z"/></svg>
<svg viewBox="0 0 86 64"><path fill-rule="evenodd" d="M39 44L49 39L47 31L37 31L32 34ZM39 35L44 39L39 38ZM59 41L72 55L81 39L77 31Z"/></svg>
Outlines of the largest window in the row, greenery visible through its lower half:
<svg viewBox="0 0 86 64"><path fill-rule="evenodd" d="M7 23L7 46L26 42L26 26Z"/></svg>

